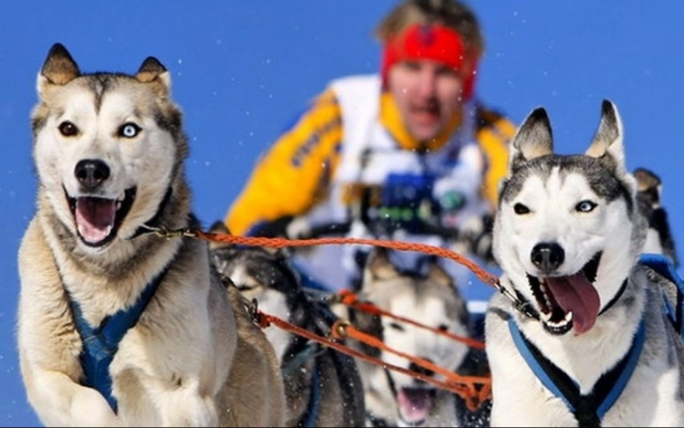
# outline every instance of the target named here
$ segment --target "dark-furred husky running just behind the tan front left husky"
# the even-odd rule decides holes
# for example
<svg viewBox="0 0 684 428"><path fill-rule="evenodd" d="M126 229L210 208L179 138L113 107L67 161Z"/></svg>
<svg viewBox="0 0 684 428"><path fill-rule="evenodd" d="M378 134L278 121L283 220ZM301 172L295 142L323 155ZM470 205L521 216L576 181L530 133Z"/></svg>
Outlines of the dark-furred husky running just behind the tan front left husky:
<svg viewBox="0 0 684 428"><path fill-rule="evenodd" d="M220 221L211 231L228 233ZM309 298L285 251L210 246L219 273L264 313L319 336L329 333L337 317L325 303ZM274 344L283 372L289 409L285 426L363 426L363 386L353 357L277 326L264 332Z"/></svg>

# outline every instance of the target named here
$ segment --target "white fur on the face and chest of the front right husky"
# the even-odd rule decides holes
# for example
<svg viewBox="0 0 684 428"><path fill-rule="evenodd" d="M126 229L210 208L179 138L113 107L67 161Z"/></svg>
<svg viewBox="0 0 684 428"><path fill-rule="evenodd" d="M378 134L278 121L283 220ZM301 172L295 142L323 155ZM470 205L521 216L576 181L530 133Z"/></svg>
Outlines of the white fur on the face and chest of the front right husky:
<svg viewBox="0 0 684 428"><path fill-rule="evenodd" d="M611 120L610 110L615 120ZM604 113L586 156L604 156L607 162L603 172L614 168L612 174L627 189L627 194L620 194L609 202L592 190L588 175L581 169L565 173L572 166L564 174L557 167L548 175L539 173L541 168L528 170L529 161L552 162L553 159L553 156L536 159L553 155L553 144L550 131L546 135L541 130L543 125L535 123L531 114L513 140L507 180L515 189L519 186L520 191L506 196L506 184L503 184L504 197L493 230L494 255L503 269L502 287L517 291L537 310L527 276L544 276L530 257L534 245L543 242L554 242L565 249L565 262L559 266L558 276L575 274L591 256L602 252L596 280L592 283L601 308L617 296L626 278L627 288L617 303L600 314L596 324L582 334L569 331L552 335L540 320L523 315L503 294L492 297L485 329L492 370L492 426L577 426L565 403L543 386L514 346L507 317L512 317L523 335L565 371L583 393L592 391L601 375L625 355L639 319L645 317L647 339L637 368L617 402L606 412L602 426L684 424L681 342L667 325L658 286L651 283L646 268L636 266L646 225L636 213L627 212L627 201L634 201L636 184L625 168L617 109L606 101ZM606 136L616 138L606 139ZM524 158L523 162L519 155ZM528 175L523 180L520 177L524 173ZM580 212L577 206L582 201L596 202L596 208ZM520 211L520 204L529 208L529 213L516 213L515 207ZM636 204L634 211L637 211Z"/></svg>

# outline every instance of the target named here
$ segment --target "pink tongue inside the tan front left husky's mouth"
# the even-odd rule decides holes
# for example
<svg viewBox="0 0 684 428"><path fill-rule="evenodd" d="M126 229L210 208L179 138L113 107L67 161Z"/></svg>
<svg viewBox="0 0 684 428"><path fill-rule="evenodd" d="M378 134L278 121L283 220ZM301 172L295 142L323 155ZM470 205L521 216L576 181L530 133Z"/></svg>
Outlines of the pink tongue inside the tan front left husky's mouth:
<svg viewBox="0 0 684 428"><path fill-rule="evenodd" d="M76 224L78 233L89 243L98 243L109 236L116 219L116 201L102 198L78 198Z"/></svg>

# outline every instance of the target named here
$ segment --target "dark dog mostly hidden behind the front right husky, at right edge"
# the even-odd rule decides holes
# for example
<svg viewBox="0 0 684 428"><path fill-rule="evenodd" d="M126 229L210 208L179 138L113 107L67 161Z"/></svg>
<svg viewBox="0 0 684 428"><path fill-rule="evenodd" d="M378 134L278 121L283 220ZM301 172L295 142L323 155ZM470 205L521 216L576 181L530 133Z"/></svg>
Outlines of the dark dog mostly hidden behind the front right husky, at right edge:
<svg viewBox="0 0 684 428"><path fill-rule="evenodd" d="M673 266L679 267L677 249L669 227L668 212L660 203L662 193L660 177L647 168L637 168L634 176L637 178L637 201L648 220L648 234L643 251L663 254L669 258Z"/></svg>

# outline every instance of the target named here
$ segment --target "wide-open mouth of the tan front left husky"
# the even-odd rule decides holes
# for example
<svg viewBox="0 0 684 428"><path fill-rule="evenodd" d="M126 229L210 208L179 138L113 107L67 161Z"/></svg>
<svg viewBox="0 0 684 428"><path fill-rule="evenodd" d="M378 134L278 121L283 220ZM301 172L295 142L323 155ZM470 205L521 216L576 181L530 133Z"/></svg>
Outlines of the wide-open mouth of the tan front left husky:
<svg viewBox="0 0 684 428"><path fill-rule="evenodd" d="M67 193L66 189L65 193ZM95 247L109 243L117 235L126 214L129 214L135 194L135 187L128 189L123 193L123 197L118 199L94 196L74 198L67 193L69 208L76 220L81 241L85 245Z"/></svg>

